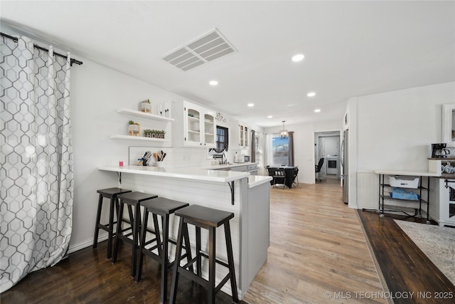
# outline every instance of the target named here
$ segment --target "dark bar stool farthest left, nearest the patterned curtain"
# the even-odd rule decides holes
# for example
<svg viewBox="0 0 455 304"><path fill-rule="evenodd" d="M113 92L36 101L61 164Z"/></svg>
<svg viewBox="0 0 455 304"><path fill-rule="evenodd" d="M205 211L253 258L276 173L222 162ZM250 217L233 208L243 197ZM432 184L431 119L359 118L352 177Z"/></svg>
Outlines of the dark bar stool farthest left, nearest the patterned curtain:
<svg viewBox="0 0 455 304"><path fill-rule="evenodd" d="M108 189L100 189L97 190L97 193L100 194L100 198L98 199L98 211L97 211L97 219L95 222L95 236L93 237L93 249L97 248L98 246L98 234L100 233L100 229L107 231L107 258L112 258L112 240L114 239L114 224L117 224L117 221L114 221L114 209L115 211L119 210L119 200L117 199L117 195L124 194L131 192L128 189L121 189L121 188L108 188ZM108 224L101 224L101 209L103 199L110 199L109 205L109 223ZM117 216L117 214L116 214Z"/></svg>

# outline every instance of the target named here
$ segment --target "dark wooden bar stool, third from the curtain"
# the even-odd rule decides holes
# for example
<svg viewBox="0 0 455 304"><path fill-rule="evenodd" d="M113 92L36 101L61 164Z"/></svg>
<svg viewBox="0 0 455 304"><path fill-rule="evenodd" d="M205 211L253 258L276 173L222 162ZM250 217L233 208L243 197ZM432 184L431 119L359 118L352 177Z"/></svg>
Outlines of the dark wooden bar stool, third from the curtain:
<svg viewBox="0 0 455 304"><path fill-rule="evenodd" d="M176 241L169 239L169 215L173 214L176 210L189 206L188 203L182 201L174 201L172 199L165 199L159 197L157 199L149 199L141 201L141 206L144 206L144 216L141 227L141 239L139 241L139 263L137 264L136 281L141 281L142 263L144 261L144 254L151 256L161 264L161 303L166 303L167 300L167 287L168 287L168 269L173 266L174 262L169 263L168 258L168 242L176 244ZM147 222L149 220L149 213L152 214L154 219L154 234L155 239L146 242ZM161 216L161 230L163 240L160 239L158 216ZM189 248L188 234L184 236L186 248ZM155 246L146 248L147 245L156 242ZM185 248L185 250L186 250ZM157 249L158 254L153 251ZM187 251L187 250L186 250ZM191 260L191 250L187 251L182 258L187 258L188 263Z"/></svg>

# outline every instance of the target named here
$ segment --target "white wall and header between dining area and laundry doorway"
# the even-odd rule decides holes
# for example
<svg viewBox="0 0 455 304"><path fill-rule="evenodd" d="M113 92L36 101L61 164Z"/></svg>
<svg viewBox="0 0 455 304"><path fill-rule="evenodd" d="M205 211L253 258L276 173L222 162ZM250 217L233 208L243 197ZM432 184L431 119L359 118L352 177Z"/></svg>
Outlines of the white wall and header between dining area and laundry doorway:
<svg viewBox="0 0 455 304"><path fill-rule="evenodd" d="M286 126L288 131L294 131L294 166L299 166L299 183L314 184L315 181L314 132L341 130L341 127L341 122L336 121ZM279 133L280 129L282 127L269 127L265 128L264 132Z"/></svg>

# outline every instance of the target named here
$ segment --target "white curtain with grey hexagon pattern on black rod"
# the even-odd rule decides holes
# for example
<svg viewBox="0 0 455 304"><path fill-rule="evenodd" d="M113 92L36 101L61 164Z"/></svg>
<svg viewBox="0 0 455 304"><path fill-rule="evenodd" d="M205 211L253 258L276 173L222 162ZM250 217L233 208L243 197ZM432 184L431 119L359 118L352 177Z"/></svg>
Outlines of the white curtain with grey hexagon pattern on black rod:
<svg viewBox="0 0 455 304"><path fill-rule="evenodd" d="M68 60L1 38L1 292L58 263L73 219Z"/></svg>

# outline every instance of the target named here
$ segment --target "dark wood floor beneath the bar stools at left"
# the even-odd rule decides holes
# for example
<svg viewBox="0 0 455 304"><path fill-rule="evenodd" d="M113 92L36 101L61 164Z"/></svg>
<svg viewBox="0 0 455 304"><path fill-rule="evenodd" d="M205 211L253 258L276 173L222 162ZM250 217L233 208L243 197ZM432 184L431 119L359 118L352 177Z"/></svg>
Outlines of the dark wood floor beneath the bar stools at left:
<svg viewBox="0 0 455 304"><path fill-rule="evenodd" d="M144 258L142 280L130 276L131 247L121 245L119 260L112 264L106 258L107 241L98 248L84 248L71 253L53 267L29 273L13 288L2 293L1 304L31 303L159 303L160 266ZM171 290L172 273L168 277ZM178 278L177 303L206 303L207 293L183 276ZM230 295L218 292L216 303L232 303ZM240 302L244 303L245 302Z"/></svg>

